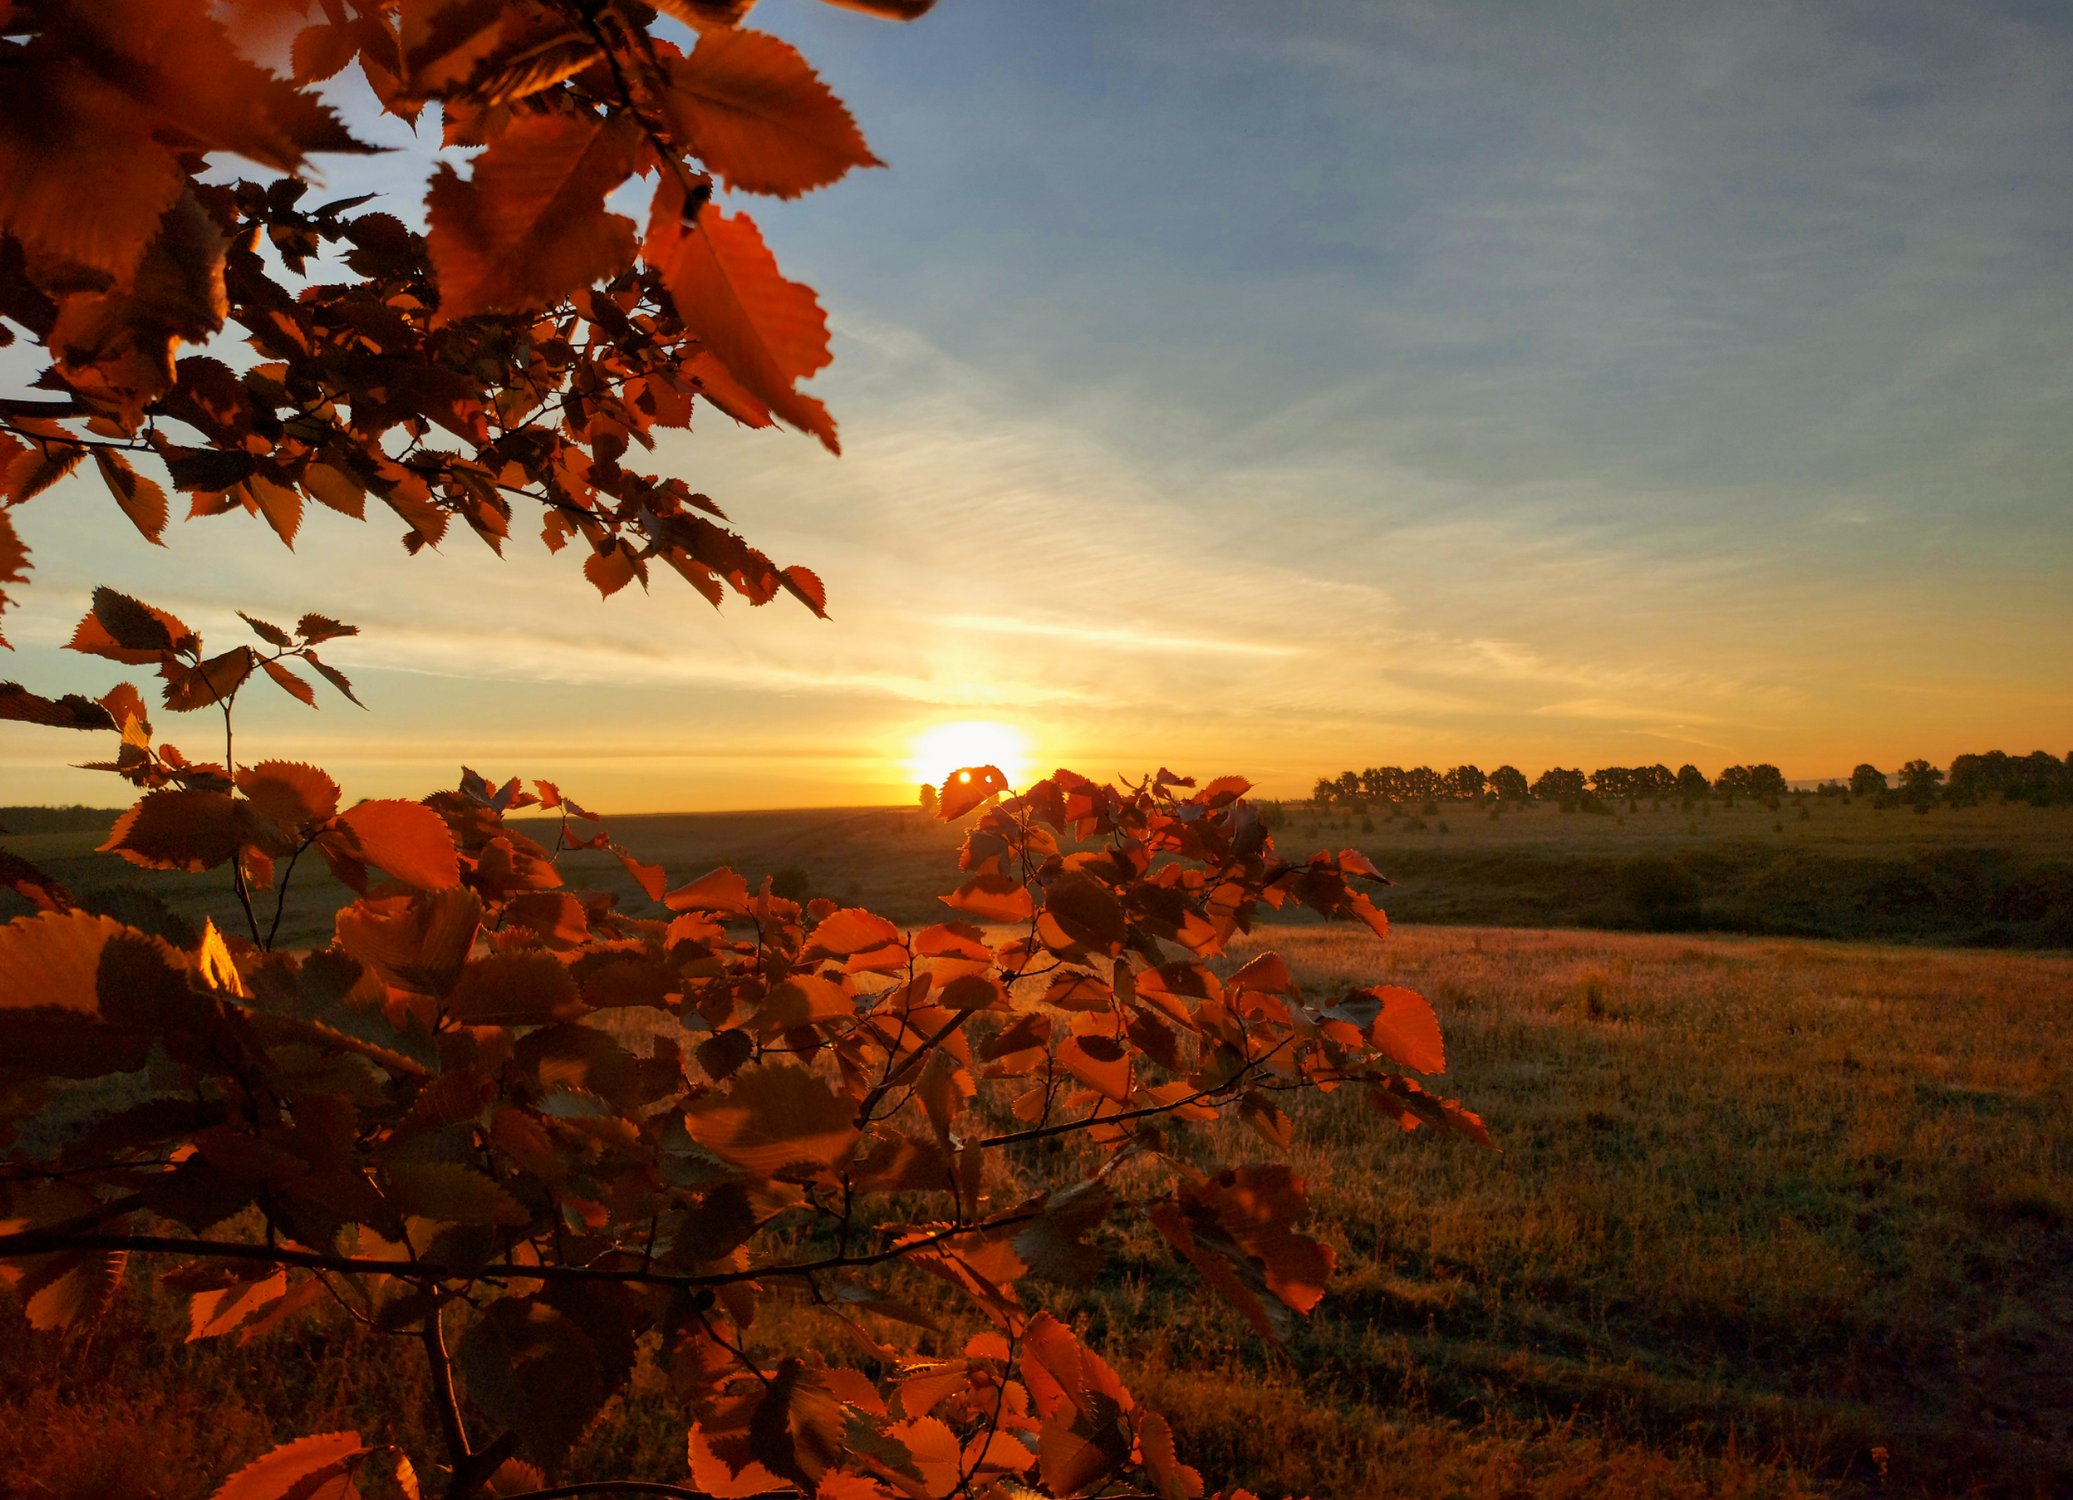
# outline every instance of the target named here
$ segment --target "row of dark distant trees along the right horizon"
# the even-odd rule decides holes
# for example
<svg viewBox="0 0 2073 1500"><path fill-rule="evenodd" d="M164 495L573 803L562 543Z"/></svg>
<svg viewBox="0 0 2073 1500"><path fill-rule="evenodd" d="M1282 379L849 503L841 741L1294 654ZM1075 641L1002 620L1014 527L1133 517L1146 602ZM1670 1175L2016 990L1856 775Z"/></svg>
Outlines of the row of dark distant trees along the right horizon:
<svg viewBox="0 0 2073 1500"><path fill-rule="evenodd" d="M1785 773L1768 760L1727 767L1708 777L1694 765L1671 771L1667 765L1600 767L1588 775L1580 767L1551 767L1532 781L1517 767L1497 767L1484 773L1474 765L1453 771L1432 767L1368 767L1318 777L1310 798L1323 808L1366 808L1370 804L1439 804L1439 802L1557 802L1575 806L1586 796L1600 802L1702 802L1750 798L1777 802L1789 794ZM1980 802L2029 802L2044 806L2073 802L2073 754L2063 760L2046 750L2011 756L2007 750L1963 754L1949 773L1930 760L1907 760L1891 777L1866 762L1849 773L1849 781L1826 781L1822 796L1911 802L1930 806L1976 806Z"/></svg>

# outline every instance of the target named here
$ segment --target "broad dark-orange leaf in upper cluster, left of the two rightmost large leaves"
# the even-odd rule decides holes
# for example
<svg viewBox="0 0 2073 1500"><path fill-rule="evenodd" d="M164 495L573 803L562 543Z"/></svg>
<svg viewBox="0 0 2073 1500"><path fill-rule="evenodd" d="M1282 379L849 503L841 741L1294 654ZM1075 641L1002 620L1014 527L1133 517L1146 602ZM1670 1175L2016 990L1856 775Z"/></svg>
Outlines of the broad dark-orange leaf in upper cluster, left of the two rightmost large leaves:
<svg viewBox="0 0 2073 1500"><path fill-rule="evenodd" d="M553 307L634 257L634 224L605 195L634 168L636 137L570 114L520 116L475 157L439 166L425 244L439 278L433 323Z"/></svg>

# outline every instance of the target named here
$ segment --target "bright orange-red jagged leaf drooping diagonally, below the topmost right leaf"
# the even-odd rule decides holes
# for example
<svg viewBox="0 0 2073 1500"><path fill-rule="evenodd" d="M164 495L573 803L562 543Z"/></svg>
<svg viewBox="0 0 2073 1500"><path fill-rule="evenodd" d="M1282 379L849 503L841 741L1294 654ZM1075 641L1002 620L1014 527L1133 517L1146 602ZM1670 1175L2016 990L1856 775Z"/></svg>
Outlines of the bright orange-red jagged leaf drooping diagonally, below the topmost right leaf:
<svg viewBox="0 0 2073 1500"><path fill-rule="evenodd" d="M827 408L794 390L831 358L827 315L813 288L777 271L746 213L728 218L707 203L686 228L682 209L684 189L665 172L641 255L661 271L684 327L750 396L840 452Z"/></svg>

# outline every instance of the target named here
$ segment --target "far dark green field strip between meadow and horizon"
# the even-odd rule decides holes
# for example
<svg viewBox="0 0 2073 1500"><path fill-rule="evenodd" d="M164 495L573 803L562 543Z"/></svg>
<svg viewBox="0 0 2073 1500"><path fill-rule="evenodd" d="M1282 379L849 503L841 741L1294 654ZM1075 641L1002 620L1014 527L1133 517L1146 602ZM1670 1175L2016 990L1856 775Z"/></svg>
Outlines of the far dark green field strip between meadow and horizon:
<svg viewBox="0 0 2073 1500"><path fill-rule="evenodd" d="M15 833L4 847L81 891L135 883L129 866L91 856L106 820ZM8 814L0 812L4 825ZM715 864L750 876L790 874L796 889L900 922L941 916L935 897L956 883L952 854L962 837L902 808L651 814L612 818L609 827L641 858L661 862L672 881ZM533 831L551 843L551 825ZM1383 818L1314 816L1296 806L1277 843L1291 856L1366 849L1395 876L1387 905L1405 922L2073 947L2073 808L1915 814L1806 796L1777 810L1750 800L1706 802L1692 812L1644 802L1611 816L1555 806L1493 816L1443 804L1430 816ZM609 856L574 856L570 866L587 883L645 903ZM222 924L234 916L218 876L147 878L189 920L209 914ZM299 876L284 941L323 941L340 897L321 870ZM8 914L0 905L0 916Z"/></svg>

